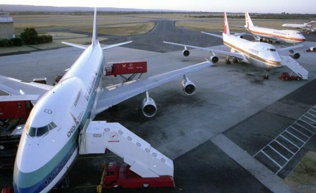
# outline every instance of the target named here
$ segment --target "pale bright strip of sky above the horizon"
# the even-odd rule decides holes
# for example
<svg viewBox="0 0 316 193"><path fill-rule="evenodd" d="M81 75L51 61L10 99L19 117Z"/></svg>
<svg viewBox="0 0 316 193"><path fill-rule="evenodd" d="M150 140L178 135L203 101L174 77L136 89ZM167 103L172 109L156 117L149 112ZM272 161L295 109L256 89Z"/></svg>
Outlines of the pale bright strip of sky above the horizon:
<svg viewBox="0 0 316 193"><path fill-rule="evenodd" d="M216 12L316 13L315 0L0 0L0 4L120 7Z"/></svg>

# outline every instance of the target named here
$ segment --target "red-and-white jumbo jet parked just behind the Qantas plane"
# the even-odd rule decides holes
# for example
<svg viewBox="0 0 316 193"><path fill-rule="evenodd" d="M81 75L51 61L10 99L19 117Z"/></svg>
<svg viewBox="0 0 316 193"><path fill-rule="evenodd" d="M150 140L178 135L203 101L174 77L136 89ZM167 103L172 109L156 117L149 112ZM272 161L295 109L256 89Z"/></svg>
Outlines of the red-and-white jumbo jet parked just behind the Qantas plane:
<svg viewBox="0 0 316 193"><path fill-rule="evenodd" d="M301 43L306 40L305 37L301 34L301 32L296 30L276 30L271 28L262 28L254 26L248 12L245 12L245 18L246 25L238 27L246 28L250 33L256 35L254 36L256 40L268 40L269 42L275 40L276 43L279 43L280 41L286 43Z"/></svg>

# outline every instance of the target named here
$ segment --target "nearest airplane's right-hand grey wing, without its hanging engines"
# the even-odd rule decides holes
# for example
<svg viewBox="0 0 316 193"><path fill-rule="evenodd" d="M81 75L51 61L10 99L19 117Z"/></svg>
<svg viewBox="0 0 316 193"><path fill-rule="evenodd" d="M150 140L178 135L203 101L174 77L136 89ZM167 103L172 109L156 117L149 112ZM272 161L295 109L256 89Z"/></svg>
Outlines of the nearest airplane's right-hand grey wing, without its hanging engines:
<svg viewBox="0 0 316 193"><path fill-rule="evenodd" d="M154 77L149 77L147 79L136 80L131 83L122 83L120 86L112 87L111 89L105 88L99 93L95 114L99 114L113 105L143 93L151 88L169 82L177 77L181 77L187 73L194 72L211 65L213 65L211 62L206 61Z"/></svg>

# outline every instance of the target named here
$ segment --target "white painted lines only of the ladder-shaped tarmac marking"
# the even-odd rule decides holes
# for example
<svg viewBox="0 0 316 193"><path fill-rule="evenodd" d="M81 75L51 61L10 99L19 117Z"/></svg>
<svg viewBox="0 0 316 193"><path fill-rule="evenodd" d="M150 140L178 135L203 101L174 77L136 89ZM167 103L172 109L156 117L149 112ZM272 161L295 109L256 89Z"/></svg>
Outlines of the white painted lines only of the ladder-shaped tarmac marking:
<svg viewBox="0 0 316 193"><path fill-rule="evenodd" d="M315 112L316 113L316 105L314 107L312 107L310 110L308 110L304 115L302 115L301 117L299 117L297 120L295 120L290 126L288 126L284 131L282 131L278 136L276 136L275 139L273 139L269 144L267 144L265 147L263 147L259 152L257 152L256 154L254 154L252 157L256 157L259 153L265 155L266 157L268 157L275 165L277 165L279 167L279 169L277 171L275 171L275 174L277 174L279 171L281 171L285 165L303 148L303 146L305 146L305 144L315 135L316 133L316 126L313 124L313 123L310 123L310 122L315 122L316 123L316 116L315 115L312 115L311 113L309 112ZM310 117L308 117L310 116ZM304 119L302 119L304 118ZM300 122L304 122L306 123L307 125L306 126L303 126L302 123L300 124ZM308 125L311 127L311 128L307 128ZM313 129L312 129L313 128ZM299 136L299 134L295 135L293 134L292 132L290 132L290 129L291 130L294 130L296 131L297 133L301 134L302 136L305 136L307 139L306 140L303 140L301 139ZM306 131L308 131L311 135L309 136L308 134L305 134L302 132L302 130L305 129ZM315 129L315 131L313 131ZM302 143L302 145L298 145L295 143L295 140L290 140L289 138L285 137L284 134L288 134L290 136L293 137L293 140L294 139L297 139L298 141L300 141ZM286 142L288 142L288 144L284 144L282 143L282 141L280 141L279 139L284 139ZM298 141L296 141L298 143ZM277 151L276 148L273 147L273 144L272 142L276 142L279 146L281 146L282 148L284 148L284 153L286 152L289 152L290 154L292 154L292 156L290 158L287 158L285 157L281 152ZM290 146L292 145L292 148L290 148ZM286 147L287 146L287 147ZM267 152L264 152L264 149L265 148L270 148L272 149L276 154L278 154L280 157L282 157L283 159L286 160L286 162L282 165L280 163L278 163L275 159L277 157L272 158L271 155L269 155L269 153ZM294 150L292 150L294 148ZM290 150L291 149L291 150ZM276 155L277 156L277 155ZM263 164L267 164L267 163L264 163L264 161L261 161L263 162Z"/></svg>

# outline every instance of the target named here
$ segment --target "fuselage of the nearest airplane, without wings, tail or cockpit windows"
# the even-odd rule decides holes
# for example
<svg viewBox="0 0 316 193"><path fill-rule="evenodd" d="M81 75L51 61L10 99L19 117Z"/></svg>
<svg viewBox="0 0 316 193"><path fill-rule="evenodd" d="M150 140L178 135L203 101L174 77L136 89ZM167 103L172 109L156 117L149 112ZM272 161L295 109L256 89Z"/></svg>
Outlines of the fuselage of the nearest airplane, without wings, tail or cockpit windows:
<svg viewBox="0 0 316 193"><path fill-rule="evenodd" d="M93 118L103 61L100 44L89 46L34 106L16 156L15 192L48 192L66 174L78 154L79 130ZM50 122L57 127L45 135L27 134L27 127L43 127Z"/></svg>

